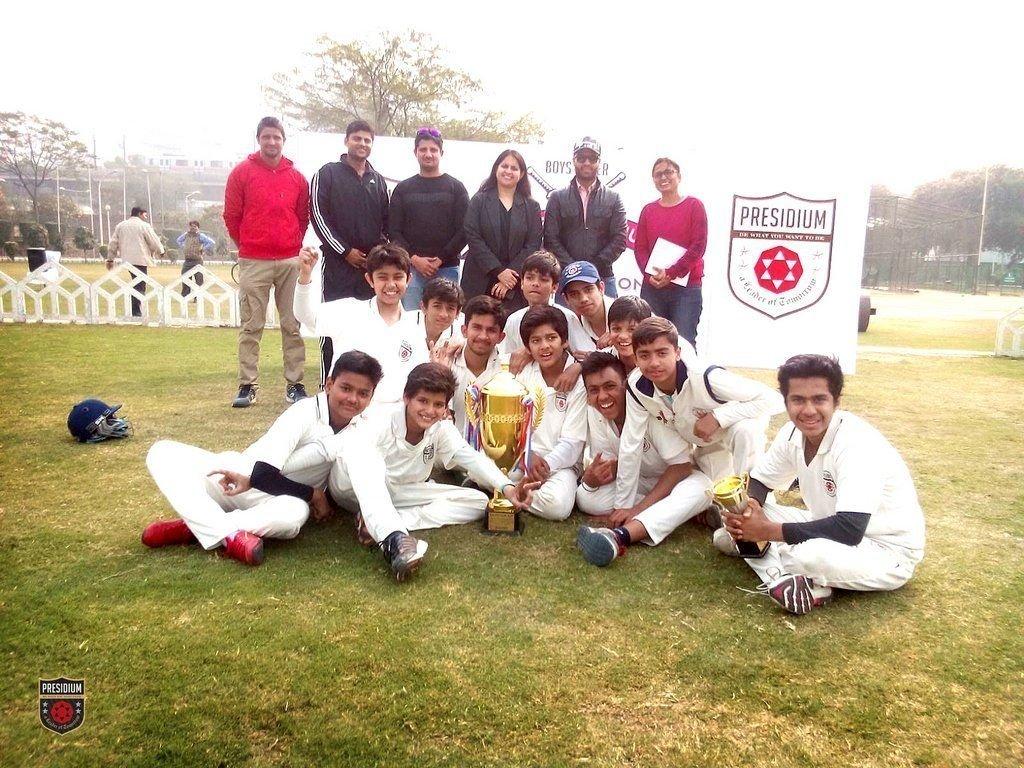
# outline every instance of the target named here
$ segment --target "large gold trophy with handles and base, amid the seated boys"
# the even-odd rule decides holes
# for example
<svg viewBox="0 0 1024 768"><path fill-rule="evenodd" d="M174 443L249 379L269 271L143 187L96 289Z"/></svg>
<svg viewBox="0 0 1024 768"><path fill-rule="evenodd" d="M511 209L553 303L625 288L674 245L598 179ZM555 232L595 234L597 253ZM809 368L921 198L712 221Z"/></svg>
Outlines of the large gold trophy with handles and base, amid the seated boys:
<svg viewBox="0 0 1024 768"><path fill-rule="evenodd" d="M506 475L525 457L528 462L534 429L544 416L543 394L530 394L508 366L483 387L466 390L467 440L483 451ZM495 490L487 502L484 531L521 534L523 519L512 502Z"/></svg>

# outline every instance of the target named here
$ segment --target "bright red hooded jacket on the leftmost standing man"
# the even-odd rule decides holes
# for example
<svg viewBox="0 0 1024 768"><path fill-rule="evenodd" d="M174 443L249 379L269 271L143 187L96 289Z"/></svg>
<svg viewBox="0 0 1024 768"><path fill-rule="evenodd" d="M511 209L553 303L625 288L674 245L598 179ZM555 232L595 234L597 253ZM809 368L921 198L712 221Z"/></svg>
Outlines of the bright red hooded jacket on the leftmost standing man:
<svg viewBox="0 0 1024 768"><path fill-rule="evenodd" d="M297 256L309 225L309 184L288 158L270 168L254 152L227 177L224 223L239 256Z"/></svg>

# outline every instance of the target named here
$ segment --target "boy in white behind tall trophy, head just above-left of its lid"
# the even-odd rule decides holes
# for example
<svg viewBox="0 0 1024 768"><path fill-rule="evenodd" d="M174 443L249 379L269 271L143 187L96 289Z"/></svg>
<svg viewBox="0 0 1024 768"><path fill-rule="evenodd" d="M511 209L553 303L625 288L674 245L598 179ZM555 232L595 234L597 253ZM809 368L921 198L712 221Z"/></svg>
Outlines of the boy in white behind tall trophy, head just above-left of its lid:
<svg viewBox="0 0 1024 768"><path fill-rule="evenodd" d="M428 286L429 287L429 286ZM505 309L490 296L474 296L466 302L463 314L466 324L462 334L466 343L452 361L456 387L452 397L452 411L459 434L466 436L466 390L471 386L482 389L495 374L502 370L501 345L505 334Z"/></svg>

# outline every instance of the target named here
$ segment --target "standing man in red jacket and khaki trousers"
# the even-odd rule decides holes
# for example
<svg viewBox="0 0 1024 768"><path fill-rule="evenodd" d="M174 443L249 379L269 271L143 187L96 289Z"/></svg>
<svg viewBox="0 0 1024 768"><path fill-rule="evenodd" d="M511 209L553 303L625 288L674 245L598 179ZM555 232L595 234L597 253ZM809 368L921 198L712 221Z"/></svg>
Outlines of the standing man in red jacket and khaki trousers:
<svg viewBox="0 0 1024 768"><path fill-rule="evenodd" d="M284 347L285 398L296 402L306 396L302 384L306 348L292 311L292 299L299 275L298 254L309 224L309 186L284 155L285 128L280 120L259 121L256 141L259 152L234 167L224 189L224 223L239 247L242 310L239 393L231 402L234 408L248 408L256 399L259 342L271 286Z"/></svg>

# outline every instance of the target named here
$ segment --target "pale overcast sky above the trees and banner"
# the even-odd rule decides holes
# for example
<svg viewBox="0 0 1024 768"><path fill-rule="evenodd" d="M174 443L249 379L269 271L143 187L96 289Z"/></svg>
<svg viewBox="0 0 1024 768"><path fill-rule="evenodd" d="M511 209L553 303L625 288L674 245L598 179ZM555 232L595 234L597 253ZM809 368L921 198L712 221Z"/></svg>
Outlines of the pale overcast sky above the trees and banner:
<svg viewBox="0 0 1024 768"><path fill-rule="evenodd" d="M248 151L270 111L262 86L318 35L412 28L483 82L487 105L534 112L550 140L838 154L898 191L1024 167L1017 3L12 4L0 111L95 133L101 154L121 134L129 153Z"/></svg>

